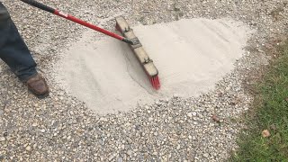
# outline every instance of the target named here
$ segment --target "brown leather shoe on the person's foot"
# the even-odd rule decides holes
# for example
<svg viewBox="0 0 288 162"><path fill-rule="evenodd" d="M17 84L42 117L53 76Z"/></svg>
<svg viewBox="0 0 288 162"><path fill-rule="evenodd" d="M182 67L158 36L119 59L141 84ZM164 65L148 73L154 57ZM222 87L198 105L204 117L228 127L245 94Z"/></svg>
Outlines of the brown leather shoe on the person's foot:
<svg viewBox="0 0 288 162"><path fill-rule="evenodd" d="M40 74L31 76L26 82L28 89L32 94L35 94L38 98L45 98L49 94L49 87L46 83L45 78Z"/></svg>

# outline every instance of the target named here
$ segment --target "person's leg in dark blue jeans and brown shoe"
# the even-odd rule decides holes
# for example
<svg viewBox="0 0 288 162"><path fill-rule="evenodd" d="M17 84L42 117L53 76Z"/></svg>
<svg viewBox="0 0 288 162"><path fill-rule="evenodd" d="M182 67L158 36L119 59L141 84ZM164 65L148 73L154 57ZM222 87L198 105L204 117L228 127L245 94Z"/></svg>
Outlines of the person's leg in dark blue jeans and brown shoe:
<svg viewBox="0 0 288 162"><path fill-rule="evenodd" d="M12 69L29 90L43 98L49 94L45 79L36 71L31 52L11 20L4 4L0 2L0 58Z"/></svg>

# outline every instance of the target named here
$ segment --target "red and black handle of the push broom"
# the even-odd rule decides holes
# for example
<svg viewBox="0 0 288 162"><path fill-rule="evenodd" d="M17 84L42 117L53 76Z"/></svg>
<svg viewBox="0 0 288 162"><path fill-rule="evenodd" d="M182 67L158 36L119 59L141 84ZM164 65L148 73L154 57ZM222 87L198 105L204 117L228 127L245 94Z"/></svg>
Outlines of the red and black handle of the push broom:
<svg viewBox="0 0 288 162"><path fill-rule="evenodd" d="M109 35L112 38L115 38L117 40L121 40L121 41L124 41L124 42L129 43L129 44L134 44L134 42L132 40L129 40L129 39L125 38L125 37L122 37L121 35L113 33L112 31L107 31L105 29L102 29L102 28L100 28L100 27L98 27L98 26L96 26L96 25L94 25L92 23L87 23L87 22L85 22L83 20L80 20L80 19L70 15L70 14L62 13L62 12L60 12L60 11L54 9L54 8L51 8L51 7L49 7L49 6L45 5L45 4L41 4L41 3L37 2L37 1L34 1L34 0L21 0L21 1L23 3L25 3L25 4L30 4L30 5L32 5L34 7L37 7L39 9L41 9L41 10L47 11L47 12L49 12L51 14L56 14L56 15L58 15L60 17L63 17L65 19L69 20L69 21L84 25L85 27L93 29L94 31L102 32L103 34Z"/></svg>

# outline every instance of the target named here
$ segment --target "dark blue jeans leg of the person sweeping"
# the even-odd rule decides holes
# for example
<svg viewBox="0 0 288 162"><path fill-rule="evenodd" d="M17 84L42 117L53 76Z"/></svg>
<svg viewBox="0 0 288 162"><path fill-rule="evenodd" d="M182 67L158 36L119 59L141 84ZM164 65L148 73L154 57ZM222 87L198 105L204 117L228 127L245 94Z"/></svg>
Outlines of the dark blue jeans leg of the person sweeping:
<svg viewBox="0 0 288 162"><path fill-rule="evenodd" d="M36 63L31 57L23 38L20 36L10 14L0 2L0 58L25 82L37 74Z"/></svg>

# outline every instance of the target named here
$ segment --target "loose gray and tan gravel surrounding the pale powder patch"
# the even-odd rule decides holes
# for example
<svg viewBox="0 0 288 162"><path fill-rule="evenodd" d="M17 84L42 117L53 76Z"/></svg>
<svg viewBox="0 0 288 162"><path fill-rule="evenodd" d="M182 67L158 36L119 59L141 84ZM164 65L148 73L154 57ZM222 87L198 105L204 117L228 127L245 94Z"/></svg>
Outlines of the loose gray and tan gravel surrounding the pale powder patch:
<svg viewBox="0 0 288 162"><path fill-rule="evenodd" d="M42 0L41 2L45 2ZM183 18L232 17L257 29L236 69L208 94L174 96L132 112L99 116L53 84L53 65L86 29L19 1L4 0L52 93L38 100L0 63L0 160L4 161L223 161L237 148L241 115L253 100L244 85L265 65L287 33L286 0L46 1L64 12L113 28L124 14L132 24ZM36 12L33 13L33 12ZM269 52L271 53L271 52Z"/></svg>

